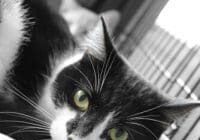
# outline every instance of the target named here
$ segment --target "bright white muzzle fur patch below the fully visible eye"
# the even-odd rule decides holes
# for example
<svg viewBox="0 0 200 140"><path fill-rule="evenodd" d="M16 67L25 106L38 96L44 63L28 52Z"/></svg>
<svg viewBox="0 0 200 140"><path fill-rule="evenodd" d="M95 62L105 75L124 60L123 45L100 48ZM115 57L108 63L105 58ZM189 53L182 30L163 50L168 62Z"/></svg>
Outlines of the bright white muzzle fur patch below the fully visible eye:
<svg viewBox="0 0 200 140"><path fill-rule="evenodd" d="M55 120L50 127L52 140L67 140L67 123L76 117L76 112L69 108L64 108L57 112Z"/></svg>

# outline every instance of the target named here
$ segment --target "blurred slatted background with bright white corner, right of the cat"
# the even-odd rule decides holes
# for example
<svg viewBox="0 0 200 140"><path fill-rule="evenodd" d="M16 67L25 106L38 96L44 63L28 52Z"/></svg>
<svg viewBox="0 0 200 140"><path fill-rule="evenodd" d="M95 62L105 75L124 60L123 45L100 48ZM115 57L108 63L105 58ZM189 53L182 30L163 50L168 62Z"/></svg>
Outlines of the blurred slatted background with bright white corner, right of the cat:
<svg viewBox="0 0 200 140"><path fill-rule="evenodd" d="M144 79L173 97L199 99L199 0L77 1L95 13L120 12L116 45ZM54 8L59 5L49 2ZM200 140L200 109L172 124L165 136Z"/></svg>

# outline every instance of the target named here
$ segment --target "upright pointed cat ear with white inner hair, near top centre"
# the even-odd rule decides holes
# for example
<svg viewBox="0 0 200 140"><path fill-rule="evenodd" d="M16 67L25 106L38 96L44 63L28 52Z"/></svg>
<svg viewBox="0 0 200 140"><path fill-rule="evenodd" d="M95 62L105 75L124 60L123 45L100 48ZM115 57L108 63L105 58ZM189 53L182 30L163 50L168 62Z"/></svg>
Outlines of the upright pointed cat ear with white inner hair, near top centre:
<svg viewBox="0 0 200 140"><path fill-rule="evenodd" d="M88 33L83 42L83 45L86 46L87 53L99 60L105 59L111 52L115 53L103 17L101 17L96 26Z"/></svg>

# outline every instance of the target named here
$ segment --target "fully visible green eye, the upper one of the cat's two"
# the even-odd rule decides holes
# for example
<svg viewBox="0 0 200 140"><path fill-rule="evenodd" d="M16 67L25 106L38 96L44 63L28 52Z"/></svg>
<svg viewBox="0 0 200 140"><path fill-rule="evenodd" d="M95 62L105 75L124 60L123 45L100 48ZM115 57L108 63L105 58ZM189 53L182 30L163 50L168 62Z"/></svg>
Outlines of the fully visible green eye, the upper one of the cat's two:
<svg viewBox="0 0 200 140"><path fill-rule="evenodd" d="M83 90L77 90L74 94L74 103L82 111L89 107L88 95Z"/></svg>

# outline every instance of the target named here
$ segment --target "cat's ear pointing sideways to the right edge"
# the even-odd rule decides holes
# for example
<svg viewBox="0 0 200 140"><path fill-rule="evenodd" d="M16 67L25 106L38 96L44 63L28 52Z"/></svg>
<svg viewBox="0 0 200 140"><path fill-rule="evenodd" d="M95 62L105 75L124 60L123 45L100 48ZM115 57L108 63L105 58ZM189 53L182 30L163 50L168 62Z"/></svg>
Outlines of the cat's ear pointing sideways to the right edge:
<svg viewBox="0 0 200 140"><path fill-rule="evenodd" d="M200 108L200 101L174 99L161 107L161 110L169 119L176 120L197 108Z"/></svg>

